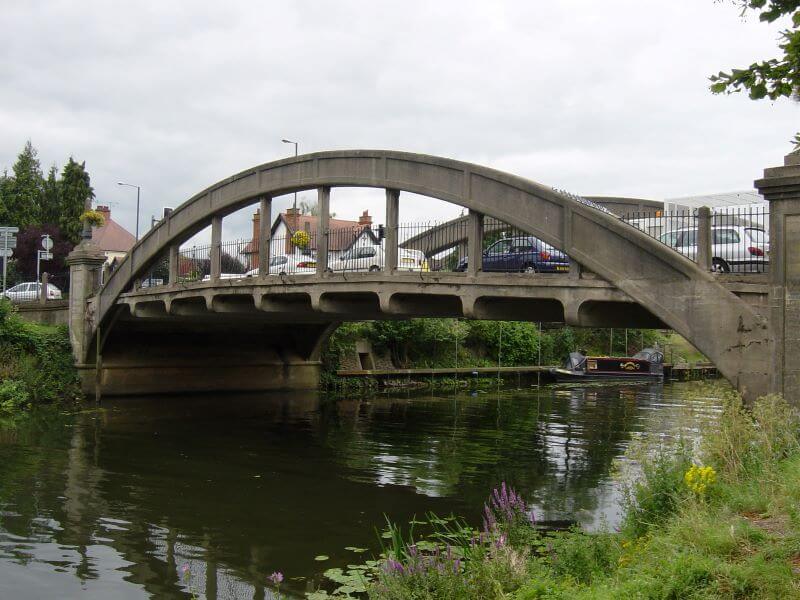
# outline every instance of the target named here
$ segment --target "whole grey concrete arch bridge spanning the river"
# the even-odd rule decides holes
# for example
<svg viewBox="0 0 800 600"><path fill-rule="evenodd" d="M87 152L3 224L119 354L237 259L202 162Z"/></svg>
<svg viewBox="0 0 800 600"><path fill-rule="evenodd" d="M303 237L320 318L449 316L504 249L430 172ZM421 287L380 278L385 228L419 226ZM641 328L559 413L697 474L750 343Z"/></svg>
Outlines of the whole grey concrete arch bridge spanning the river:
<svg viewBox="0 0 800 600"><path fill-rule="evenodd" d="M330 273L331 189L386 190L385 267ZM272 198L318 190L316 274L269 276ZM466 208L466 273L397 269L402 192ZM223 219L261 211L260 275L221 277ZM487 218L530 232L583 267L570 274L484 273ZM208 281L182 283L179 248L211 227ZM169 283L141 287L168 257ZM686 337L748 395L770 389L767 286L719 277L580 198L446 158L379 150L320 152L262 164L193 196L96 288L89 242L70 256L70 329L87 391L138 394L314 387L323 342L342 321L458 316L592 327L665 327Z"/></svg>

